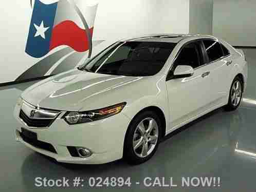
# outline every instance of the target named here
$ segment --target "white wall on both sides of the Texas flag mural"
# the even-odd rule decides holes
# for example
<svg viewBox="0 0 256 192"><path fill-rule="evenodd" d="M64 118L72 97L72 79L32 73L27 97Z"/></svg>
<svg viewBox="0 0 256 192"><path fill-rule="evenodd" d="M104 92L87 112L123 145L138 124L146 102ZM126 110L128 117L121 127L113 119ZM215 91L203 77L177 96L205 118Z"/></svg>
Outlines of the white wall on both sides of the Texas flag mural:
<svg viewBox="0 0 256 192"><path fill-rule="evenodd" d="M97 2L99 6L94 40L106 40L102 46L95 47L98 51L107 45L107 42L124 37L189 32L189 0L98 0ZM43 59L35 59L25 53L31 14L29 1L5 1L0 8L2 43L0 84L14 81ZM68 59L65 65L72 63L70 56Z"/></svg>

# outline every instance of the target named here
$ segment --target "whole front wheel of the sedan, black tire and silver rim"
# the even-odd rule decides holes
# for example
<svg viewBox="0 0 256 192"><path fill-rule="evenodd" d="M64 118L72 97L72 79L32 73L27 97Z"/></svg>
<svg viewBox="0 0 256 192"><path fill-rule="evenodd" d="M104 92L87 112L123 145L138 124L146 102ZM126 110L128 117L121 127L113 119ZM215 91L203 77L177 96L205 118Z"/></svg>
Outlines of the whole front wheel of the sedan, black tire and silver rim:
<svg viewBox="0 0 256 192"><path fill-rule="evenodd" d="M152 129L150 131L150 126ZM144 125L144 133L142 131ZM161 121L154 111L143 111L131 121L124 140L123 157L127 163L137 165L151 159L159 145ZM148 149L147 147L148 146ZM143 152L142 152L143 151Z"/></svg>

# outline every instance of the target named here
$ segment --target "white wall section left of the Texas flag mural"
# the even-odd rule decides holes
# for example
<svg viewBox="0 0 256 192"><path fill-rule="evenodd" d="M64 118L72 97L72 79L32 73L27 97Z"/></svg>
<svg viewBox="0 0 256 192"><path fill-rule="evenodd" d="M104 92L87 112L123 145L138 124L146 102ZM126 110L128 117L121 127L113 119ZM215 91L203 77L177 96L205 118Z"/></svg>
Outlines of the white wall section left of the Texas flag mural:
<svg viewBox="0 0 256 192"><path fill-rule="evenodd" d="M14 81L35 62L25 54L30 20L29 1L6 1L0 8L0 83Z"/></svg>

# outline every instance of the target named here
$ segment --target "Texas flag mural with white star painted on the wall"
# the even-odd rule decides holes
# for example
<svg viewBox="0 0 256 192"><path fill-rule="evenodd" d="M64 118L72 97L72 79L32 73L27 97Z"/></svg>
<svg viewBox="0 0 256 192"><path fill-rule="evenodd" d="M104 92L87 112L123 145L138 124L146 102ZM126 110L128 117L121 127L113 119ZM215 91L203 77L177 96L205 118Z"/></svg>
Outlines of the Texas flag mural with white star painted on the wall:
<svg viewBox="0 0 256 192"><path fill-rule="evenodd" d="M91 52L97 7L86 0L34 0L26 53L40 58L62 45Z"/></svg>

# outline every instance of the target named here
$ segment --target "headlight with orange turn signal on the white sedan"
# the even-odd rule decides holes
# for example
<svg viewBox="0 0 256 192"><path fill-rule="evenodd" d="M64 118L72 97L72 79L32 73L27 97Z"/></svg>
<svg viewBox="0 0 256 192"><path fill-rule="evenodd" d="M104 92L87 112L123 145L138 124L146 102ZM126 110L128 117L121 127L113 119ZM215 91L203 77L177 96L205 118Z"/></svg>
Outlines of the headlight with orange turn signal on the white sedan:
<svg viewBox="0 0 256 192"><path fill-rule="evenodd" d="M123 110L125 105L126 103L124 102L124 103L119 103L110 107L92 110L92 111L67 112L64 116L64 120L70 125L97 121L97 120L105 119L120 113Z"/></svg>

